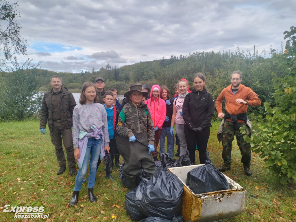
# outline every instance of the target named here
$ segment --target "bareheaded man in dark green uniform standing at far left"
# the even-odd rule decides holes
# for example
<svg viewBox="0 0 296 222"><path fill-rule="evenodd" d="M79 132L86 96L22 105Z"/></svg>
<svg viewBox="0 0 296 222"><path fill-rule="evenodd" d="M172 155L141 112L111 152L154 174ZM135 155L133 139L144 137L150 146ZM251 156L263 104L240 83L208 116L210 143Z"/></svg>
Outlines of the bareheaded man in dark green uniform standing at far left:
<svg viewBox="0 0 296 222"><path fill-rule="evenodd" d="M52 89L44 93L40 110L40 132L45 134L46 122L50 131L50 138L55 147L55 154L59 163L57 175L66 170L66 159L63 151L65 146L70 175L76 174L72 137L72 115L76 106L75 99L67 89L62 87L62 78L58 75L50 77Z"/></svg>

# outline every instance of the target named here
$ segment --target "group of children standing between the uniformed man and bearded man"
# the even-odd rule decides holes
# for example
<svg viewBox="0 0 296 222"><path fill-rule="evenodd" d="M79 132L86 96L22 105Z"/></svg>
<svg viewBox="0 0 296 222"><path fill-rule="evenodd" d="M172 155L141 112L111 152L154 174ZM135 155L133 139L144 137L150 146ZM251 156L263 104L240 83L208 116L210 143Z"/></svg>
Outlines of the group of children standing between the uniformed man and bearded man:
<svg viewBox="0 0 296 222"><path fill-rule="evenodd" d="M194 89L189 91L186 79L181 79L175 86L176 95L170 98L170 90L166 86L153 85L151 91L142 85L130 86L124 94L125 99L118 115L113 105L114 94L105 94L105 107L97 103L96 87L91 82L83 84L80 104L73 111L73 141L74 156L78 160L81 135L87 136L86 154L82 167L75 179L75 188L70 205L78 201L83 178L89 164L88 194L91 202L96 201L92 189L96 177L98 162L104 157L105 151L110 152L117 131L120 142L118 149L125 159L123 172L131 187L136 187L140 169L145 169L150 177L155 172L157 146L160 142L160 152L165 151L167 137L167 152L174 161L174 125L176 125L176 140L179 140L179 155L189 151L191 162L195 163L195 150L198 148L200 164L205 163L207 141L210 136L210 120L214 115L214 99L205 87L205 77L197 73L193 78ZM148 91L148 92L147 92ZM150 91L150 95L149 95ZM191 92L191 93L190 93ZM144 101L144 102L143 102ZM112 123L108 117L112 116ZM111 119L111 118L110 118ZM97 130L93 130L96 128ZM121 139L121 140L120 140ZM120 149L124 147L123 149ZM113 151L114 152L114 151ZM91 158L89 161L89 154ZM114 154L113 154L114 155ZM99 160L100 159L100 160ZM107 177L107 171L106 171ZM149 177L147 178L149 179Z"/></svg>

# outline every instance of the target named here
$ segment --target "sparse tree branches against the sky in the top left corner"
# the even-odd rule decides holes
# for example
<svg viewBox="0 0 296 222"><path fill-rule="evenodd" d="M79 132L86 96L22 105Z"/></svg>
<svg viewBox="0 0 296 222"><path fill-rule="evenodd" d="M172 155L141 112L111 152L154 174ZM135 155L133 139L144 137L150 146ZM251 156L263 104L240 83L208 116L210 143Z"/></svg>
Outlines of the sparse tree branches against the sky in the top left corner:
<svg viewBox="0 0 296 222"><path fill-rule="evenodd" d="M16 11L17 2L9 4L0 0L0 64L7 69L7 61L14 61L16 55L26 55L26 40L20 36L21 26L17 22L20 13ZM0 70L2 68L0 67Z"/></svg>

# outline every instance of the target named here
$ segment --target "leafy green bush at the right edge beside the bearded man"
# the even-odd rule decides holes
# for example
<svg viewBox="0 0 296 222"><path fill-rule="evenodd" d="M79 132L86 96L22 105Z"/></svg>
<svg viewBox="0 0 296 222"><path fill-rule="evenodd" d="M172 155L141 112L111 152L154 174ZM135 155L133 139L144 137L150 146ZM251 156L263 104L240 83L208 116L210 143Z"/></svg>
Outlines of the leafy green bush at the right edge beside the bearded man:
<svg viewBox="0 0 296 222"><path fill-rule="evenodd" d="M266 120L258 117L252 130L253 151L264 159L271 180L281 184L296 179L296 28L290 27L284 35L288 39L284 54L274 53L273 60L288 72L284 77L272 74L276 105L264 103Z"/></svg>

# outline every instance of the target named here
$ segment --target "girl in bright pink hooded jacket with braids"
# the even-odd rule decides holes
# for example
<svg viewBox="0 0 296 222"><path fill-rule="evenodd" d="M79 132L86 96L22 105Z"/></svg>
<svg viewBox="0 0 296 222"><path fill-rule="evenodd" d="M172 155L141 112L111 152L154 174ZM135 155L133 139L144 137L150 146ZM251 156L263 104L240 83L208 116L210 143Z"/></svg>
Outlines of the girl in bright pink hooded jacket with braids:
<svg viewBox="0 0 296 222"><path fill-rule="evenodd" d="M163 99L160 99L160 87L159 85L153 85L150 92L150 99L145 101L145 104L147 104L149 111L151 113L151 118L154 125L154 131L155 131L155 151L157 151L157 146L161 134L161 129L163 127L163 123L165 121L165 115L166 115L166 104ZM157 159L157 152L152 152L152 156L154 160Z"/></svg>

